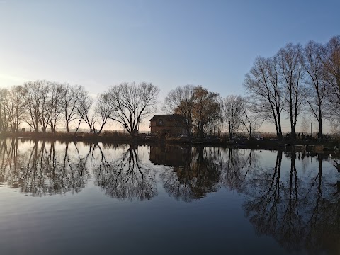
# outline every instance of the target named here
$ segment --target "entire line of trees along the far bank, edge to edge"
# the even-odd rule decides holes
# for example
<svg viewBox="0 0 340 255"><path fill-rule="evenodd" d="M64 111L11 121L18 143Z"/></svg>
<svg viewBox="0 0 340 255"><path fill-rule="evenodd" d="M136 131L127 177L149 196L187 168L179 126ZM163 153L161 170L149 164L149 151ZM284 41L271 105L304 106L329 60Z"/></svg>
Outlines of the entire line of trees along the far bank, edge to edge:
<svg viewBox="0 0 340 255"><path fill-rule="evenodd" d="M239 130L252 137L268 121L281 140L283 119L288 118L294 139L301 113L317 120L322 137L324 120L340 123L340 36L324 45L289 43L273 57L256 57L243 86L246 96L225 98L202 86L179 86L166 96L162 110L185 117L190 137L211 135L221 125L230 138ZM79 85L28 81L0 89L0 131L18 132L26 123L35 132L55 132L61 125L67 132L73 125L77 132L85 123L90 132L100 133L113 121L134 136L140 123L157 111L159 91L151 83L123 82L93 98Z"/></svg>

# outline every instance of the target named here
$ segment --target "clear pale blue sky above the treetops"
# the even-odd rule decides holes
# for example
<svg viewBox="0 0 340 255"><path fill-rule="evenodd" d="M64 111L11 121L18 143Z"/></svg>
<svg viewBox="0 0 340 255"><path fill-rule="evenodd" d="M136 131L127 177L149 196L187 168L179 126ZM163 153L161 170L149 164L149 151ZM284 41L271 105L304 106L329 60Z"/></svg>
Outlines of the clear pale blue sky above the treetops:
<svg viewBox="0 0 340 255"><path fill-rule="evenodd" d="M340 1L0 0L0 86L121 81L243 94L256 56L340 34Z"/></svg>

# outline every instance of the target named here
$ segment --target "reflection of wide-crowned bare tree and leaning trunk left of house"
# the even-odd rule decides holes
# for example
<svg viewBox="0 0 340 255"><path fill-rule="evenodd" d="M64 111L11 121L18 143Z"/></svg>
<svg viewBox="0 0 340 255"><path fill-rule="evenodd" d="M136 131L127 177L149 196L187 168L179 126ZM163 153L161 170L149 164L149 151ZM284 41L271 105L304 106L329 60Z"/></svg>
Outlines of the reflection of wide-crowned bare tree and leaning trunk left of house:
<svg viewBox="0 0 340 255"><path fill-rule="evenodd" d="M149 200L157 195L155 171L142 164L137 147L120 150L117 159L108 161L100 146L101 159L94 168L95 183L108 196L120 200Z"/></svg>

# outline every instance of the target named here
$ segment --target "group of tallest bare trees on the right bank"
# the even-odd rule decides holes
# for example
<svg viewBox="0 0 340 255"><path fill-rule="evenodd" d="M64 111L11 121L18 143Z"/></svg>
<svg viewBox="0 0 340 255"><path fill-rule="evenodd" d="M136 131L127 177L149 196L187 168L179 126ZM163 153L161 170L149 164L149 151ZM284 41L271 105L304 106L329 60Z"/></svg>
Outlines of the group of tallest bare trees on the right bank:
<svg viewBox="0 0 340 255"><path fill-rule="evenodd" d="M297 117L307 112L318 123L340 120L340 36L325 45L310 41L304 47L289 43L273 57L257 57L244 81L252 111L271 121L282 139L282 120L288 116L296 138Z"/></svg>

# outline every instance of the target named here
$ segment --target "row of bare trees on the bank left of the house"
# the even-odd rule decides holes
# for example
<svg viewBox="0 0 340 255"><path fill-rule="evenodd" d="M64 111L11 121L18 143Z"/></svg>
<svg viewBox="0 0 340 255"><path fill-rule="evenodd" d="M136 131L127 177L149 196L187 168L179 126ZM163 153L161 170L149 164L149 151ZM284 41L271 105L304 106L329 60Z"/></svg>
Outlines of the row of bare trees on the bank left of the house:
<svg viewBox="0 0 340 255"><path fill-rule="evenodd" d="M0 130L18 132L26 123L35 132L55 132L57 126L79 130L81 123L89 132L102 132L108 120L123 126L130 135L156 109L159 88L142 82L111 86L96 98L83 86L52 81L28 81L21 86L0 89Z"/></svg>

